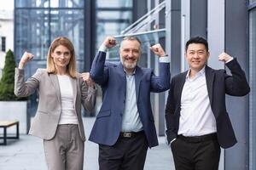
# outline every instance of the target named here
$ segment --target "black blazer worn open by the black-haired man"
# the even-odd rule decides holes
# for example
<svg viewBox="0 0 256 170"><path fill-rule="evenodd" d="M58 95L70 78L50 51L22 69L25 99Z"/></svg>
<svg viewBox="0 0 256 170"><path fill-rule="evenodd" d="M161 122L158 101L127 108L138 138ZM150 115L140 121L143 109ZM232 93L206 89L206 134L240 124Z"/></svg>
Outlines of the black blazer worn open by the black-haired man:
<svg viewBox="0 0 256 170"><path fill-rule="evenodd" d="M207 91L216 119L218 143L223 148L229 148L237 142L226 111L225 94L243 96L250 92L245 73L241 70L237 60L231 60L226 66L230 69L232 76L226 74L223 69L213 70L206 65ZM188 71L185 71L172 78L166 103L166 134L169 143L177 138L181 94L187 73Z"/></svg>

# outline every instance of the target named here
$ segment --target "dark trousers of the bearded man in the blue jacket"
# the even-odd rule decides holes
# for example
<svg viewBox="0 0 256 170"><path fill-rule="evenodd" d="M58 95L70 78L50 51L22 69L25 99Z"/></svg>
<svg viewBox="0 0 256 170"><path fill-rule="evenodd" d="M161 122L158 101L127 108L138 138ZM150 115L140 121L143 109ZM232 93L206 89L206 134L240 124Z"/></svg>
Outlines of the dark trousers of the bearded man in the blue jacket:
<svg viewBox="0 0 256 170"><path fill-rule="evenodd" d="M144 133L135 136L119 136L116 144L99 144L100 170L143 170L148 151Z"/></svg>

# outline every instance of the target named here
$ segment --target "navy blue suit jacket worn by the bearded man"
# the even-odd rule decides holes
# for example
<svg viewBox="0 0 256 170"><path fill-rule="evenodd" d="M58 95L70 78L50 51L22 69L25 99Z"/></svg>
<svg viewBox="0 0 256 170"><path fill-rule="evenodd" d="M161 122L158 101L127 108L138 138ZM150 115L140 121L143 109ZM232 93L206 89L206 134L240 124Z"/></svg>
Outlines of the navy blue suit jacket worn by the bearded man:
<svg viewBox="0 0 256 170"><path fill-rule="evenodd" d="M106 53L98 52L93 60L90 77L102 87L102 108L90 133L90 141L97 144L113 145L119 138L122 115L125 109L126 77L123 65L106 63ZM148 146L158 145L154 116L150 105L150 92L164 92L170 88L170 64L160 63L160 76L153 69L137 66L135 87L137 109Z"/></svg>

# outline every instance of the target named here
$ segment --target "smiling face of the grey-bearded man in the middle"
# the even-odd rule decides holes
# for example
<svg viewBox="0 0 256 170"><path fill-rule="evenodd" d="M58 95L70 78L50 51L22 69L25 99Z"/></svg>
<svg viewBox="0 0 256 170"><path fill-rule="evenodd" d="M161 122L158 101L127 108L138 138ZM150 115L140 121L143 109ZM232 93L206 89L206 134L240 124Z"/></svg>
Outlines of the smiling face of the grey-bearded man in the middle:
<svg viewBox="0 0 256 170"><path fill-rule="evenodd" d="M123 40L119 49L125 71L133 72L141 55L141 44L137 40Z"/></svg>

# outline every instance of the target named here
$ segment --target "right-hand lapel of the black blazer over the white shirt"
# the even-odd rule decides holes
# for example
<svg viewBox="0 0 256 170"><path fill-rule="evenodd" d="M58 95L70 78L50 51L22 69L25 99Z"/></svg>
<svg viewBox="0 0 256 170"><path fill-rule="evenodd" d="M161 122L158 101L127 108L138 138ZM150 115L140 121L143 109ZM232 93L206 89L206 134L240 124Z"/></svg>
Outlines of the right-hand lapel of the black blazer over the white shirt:
<svg viewBox="0 0 256 170"><path fill-rule="evenodd" d="M212 91L213 91L213 81L215 73L214 71L206 65L206 79L207 79L207 91L210 99L210 104L212 105Z"/></svg>

